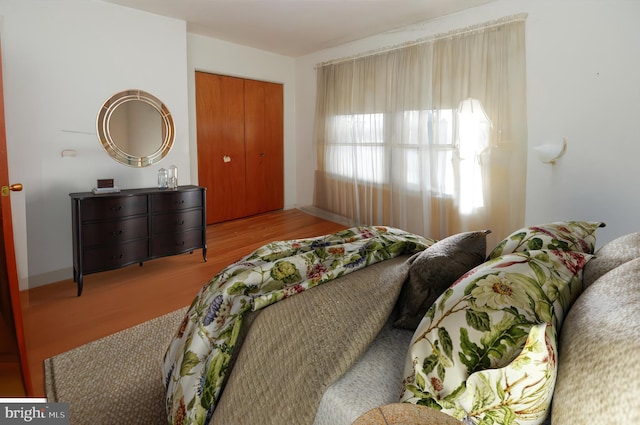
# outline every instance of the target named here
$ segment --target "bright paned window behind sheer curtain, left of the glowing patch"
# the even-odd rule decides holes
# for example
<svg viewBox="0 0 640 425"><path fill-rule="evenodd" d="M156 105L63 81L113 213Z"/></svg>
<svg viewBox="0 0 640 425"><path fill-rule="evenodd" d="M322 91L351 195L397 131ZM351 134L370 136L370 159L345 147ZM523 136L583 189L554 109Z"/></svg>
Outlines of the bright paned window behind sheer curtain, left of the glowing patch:
<svg viewBox="0 0 640 425"><path fill-rule="evenodd" d="M389 183L390 170L400 170L401 179L410 190L419 191L429 182L435 196L452 196L454 111L413 110L400 113L398 120L394 120L395 116L334 116L331 144L325 151L327 171L343 178L385 184ZM385 139L395 143L385 144ZM437 176L426 175L429 170L440 172Z"/></svg>

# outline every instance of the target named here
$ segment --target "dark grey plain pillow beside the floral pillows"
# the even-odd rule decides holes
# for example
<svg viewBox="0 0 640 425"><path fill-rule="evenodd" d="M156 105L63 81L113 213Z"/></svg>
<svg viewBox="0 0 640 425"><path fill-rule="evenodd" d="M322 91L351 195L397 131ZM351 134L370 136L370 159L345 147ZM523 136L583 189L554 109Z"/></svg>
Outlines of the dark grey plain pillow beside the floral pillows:
<svg viewBox="0 0 640 425"><path fill-rule="evenodd" d="M484 262L489 233L490 230L458 233L411 256L394 326L415 331L431 304L458 278Z"/></svg>

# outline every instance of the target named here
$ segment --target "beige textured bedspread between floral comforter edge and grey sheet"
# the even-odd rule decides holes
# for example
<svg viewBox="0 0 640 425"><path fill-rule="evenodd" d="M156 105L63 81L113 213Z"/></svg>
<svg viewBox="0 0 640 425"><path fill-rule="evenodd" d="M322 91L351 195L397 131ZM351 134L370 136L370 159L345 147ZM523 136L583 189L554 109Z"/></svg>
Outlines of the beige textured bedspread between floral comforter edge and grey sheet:
<svg viewBox="0 0 640 425"><path fill-rule="evenodd" d="M407 258L371 265L247 316L210 424L312 424L325 389L392 313Z"/></svg>

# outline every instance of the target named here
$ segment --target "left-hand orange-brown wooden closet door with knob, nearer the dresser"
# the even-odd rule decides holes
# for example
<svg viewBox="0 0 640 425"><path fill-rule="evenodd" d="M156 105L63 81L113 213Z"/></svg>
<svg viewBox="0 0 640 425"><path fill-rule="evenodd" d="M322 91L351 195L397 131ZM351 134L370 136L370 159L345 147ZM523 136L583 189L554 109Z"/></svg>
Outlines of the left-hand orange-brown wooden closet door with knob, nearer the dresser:
<svg viewBox="0 0 640 425"><path fill-rule="evenodd" d="M207 224L245 216L244 80L196 72L198 184Z"/></svg>

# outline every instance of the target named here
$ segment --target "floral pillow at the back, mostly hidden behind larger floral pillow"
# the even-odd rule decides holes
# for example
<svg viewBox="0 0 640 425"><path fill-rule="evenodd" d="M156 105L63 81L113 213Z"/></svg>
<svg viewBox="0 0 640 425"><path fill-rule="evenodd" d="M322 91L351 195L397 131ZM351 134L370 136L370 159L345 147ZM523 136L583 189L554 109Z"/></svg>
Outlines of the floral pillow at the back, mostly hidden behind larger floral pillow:
<svg viewBox="0 0 640 425"><path fill-rule="evenodd" d="M500 242L488 259L513 252L532 249L579 251L593 254L596 245L595 231L604 227L601 221L558 221L516 230Z"/></svg>

